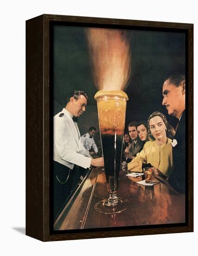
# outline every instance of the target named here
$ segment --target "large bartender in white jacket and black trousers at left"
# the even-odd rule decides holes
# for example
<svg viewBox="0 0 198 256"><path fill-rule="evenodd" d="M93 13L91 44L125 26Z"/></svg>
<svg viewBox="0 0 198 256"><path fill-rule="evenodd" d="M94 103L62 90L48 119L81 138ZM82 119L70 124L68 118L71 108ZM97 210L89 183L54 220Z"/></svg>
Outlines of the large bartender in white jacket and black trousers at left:
<svg viewBox="0 0 198 256"><path fill-rule="evenodd" d="M54 218L78 184L82 168L104 166L103 158L92 159L80 140L77 119L86 111L87 100L85 92L74 91L66 107L53 118Z"/></svg>

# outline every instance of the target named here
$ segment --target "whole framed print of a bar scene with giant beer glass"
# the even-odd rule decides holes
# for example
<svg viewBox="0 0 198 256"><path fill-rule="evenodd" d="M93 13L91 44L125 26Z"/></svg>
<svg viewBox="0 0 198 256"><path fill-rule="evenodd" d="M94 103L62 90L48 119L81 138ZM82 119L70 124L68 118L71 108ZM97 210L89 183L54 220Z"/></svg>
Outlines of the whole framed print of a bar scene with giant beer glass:
<svg viewBox="0 0 198 256"><path fill-rule="evenodd" d="M26 235L193 231L193 24L26 21Z"/></svg>

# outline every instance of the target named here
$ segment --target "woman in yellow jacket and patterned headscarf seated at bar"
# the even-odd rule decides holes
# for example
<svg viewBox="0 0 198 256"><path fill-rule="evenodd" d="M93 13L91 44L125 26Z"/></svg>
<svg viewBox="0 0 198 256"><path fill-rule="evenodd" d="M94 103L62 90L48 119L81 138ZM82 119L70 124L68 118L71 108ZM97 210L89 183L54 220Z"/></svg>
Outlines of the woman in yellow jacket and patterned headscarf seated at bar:
<svg viewBox="0 0 198 256"><path fill-rule="evenodd" d="M155 168L155 174L167 177L173 170L172 144L173 129L168 124L165 115L153 112L148 118L148 134L144 148L128 163L128 170L142 172L142 164L150 163Z"/></svg>

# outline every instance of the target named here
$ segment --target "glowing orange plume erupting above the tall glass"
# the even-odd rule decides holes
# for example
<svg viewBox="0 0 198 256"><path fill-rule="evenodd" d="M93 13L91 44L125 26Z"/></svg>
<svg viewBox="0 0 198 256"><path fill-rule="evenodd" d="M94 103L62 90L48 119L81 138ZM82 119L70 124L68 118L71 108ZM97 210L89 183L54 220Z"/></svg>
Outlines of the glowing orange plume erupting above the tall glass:
<svg viewBox="0 0 198 256"><path fill-rule="evenodd" d="M124 90L130 76L130 47L126 31L86 29L93 79L98 90Z"/></svg>

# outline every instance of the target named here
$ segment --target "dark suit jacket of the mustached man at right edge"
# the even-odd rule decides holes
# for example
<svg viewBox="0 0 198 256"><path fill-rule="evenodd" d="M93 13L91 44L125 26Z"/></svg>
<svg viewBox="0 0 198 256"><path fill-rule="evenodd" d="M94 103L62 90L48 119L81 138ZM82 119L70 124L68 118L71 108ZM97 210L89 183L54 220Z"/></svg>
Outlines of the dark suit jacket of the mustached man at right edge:
<svg viewBox="0 0 198 256"><path fill-rule="evenodd" d="M174 171L168 182L179 193L185 194L185 111L178 123L175 139L178 144L172 148Z"/></svg>

